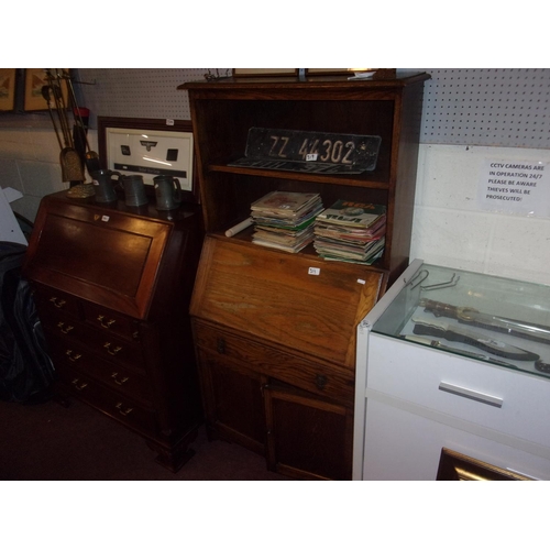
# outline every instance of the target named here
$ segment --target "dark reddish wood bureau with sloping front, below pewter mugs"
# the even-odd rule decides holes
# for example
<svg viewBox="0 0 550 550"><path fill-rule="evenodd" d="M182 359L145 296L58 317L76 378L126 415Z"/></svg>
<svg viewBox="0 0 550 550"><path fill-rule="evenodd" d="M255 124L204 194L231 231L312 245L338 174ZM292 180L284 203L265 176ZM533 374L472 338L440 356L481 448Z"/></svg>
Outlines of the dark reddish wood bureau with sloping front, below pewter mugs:
<svg viewBox="0 0 550 550"><path fill-rule="evenodd" d="M201 422L188 307L202 243L194 205L172 212L44 197L24 276L58 393L140 433L177 471Z"/></svg>

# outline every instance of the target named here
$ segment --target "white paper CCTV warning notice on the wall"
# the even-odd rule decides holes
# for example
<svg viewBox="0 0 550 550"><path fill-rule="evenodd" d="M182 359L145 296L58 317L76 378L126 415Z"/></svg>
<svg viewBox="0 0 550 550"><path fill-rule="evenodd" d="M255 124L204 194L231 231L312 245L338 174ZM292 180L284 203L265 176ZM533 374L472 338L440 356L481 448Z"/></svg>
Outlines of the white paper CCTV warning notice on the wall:
<svg viewBox="0 0 550 550"><path fill-rule="evenodd" d="M550 216L550 168L537 161L486 158L480 178L483 210Z"/></svg>

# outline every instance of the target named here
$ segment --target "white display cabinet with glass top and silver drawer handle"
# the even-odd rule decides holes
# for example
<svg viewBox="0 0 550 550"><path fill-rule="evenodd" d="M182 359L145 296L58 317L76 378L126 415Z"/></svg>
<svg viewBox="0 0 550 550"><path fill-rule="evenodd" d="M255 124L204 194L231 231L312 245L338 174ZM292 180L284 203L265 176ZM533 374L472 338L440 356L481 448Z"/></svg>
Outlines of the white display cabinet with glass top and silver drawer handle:
<svg viewBox="0 0 550 550"><path fill-rule="evenodd" d="M550 287L413 262L358 327L354 480L550 480Z"/></svg>

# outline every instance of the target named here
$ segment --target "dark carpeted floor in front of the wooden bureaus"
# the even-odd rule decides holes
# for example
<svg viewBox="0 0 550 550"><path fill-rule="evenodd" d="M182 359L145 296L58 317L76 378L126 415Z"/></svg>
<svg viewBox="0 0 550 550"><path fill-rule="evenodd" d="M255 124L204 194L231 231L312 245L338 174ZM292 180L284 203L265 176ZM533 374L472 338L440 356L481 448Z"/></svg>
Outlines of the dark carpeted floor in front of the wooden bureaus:
<svg viewBox="0 0 550 550"><path fill-rule="evenodd" d="M74 400L19 405L0 402L0 480L283 481L263 457L224 441L209 442L204 428L196 454L176 474L155 462L144 440L91 407Z"/></svg>

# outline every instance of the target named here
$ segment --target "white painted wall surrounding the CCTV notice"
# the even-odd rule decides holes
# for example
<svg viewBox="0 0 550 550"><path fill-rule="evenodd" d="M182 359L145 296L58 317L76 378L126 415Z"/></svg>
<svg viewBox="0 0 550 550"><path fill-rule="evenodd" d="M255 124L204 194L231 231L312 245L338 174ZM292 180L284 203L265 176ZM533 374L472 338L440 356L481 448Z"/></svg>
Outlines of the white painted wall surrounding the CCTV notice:
<svg viewBox="0 0 550 550"><path fill-rule="evenodd" d="M548 163L550 151L422 144L411 260L550 285L550 219L483 210L486 158Z"/></svg>

